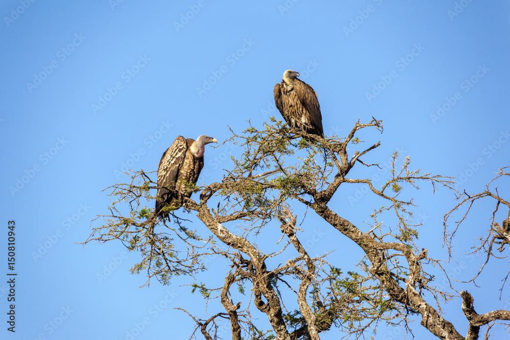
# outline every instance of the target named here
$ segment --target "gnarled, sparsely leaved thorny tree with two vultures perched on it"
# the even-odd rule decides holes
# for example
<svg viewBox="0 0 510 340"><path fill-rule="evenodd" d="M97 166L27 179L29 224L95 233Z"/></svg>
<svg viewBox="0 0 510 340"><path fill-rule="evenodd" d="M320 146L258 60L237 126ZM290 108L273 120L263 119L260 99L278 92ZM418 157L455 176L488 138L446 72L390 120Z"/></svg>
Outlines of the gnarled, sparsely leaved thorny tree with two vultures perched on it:
<svg viewBox="0 0 510 340"><path fill-rule="evenodd" d="M197 324L192 337L199 331L208 340L220 338L217 320L221 318L230 320L232 339L313 340L332 327L345 336L365 337L380 323L399 324L411 332L413 317L421 319L421 325L440 339L472 340L478 338L480 326L489 324L488 338L496 322L510 320L507 310L478 314L468 292L457 293L451 285L441 289L435 284L431 270L436 267L447 275L444 261L428 257L425 248L418 249L415 241L420 223L413 219L415 205L412 198L402 198L404 192L419 189L420 182L434 191L441 188L454 193L460 202L445 215L444 224L445 242L450 246L476 200L490 197L496 200L496 211L502 205L510 208L497 190L490 190L492 182L480 194L461 193L455 189L454 178L412 170L411 159L395 151L390 177L377 189L371 179L348 174L354 167L378 167L361 158L380 144L352 154L348 147L363 145L355 137L361 129L382 133L381 121L373 118L363 124L358 120L345 138L325 139L289 129L274 118L271 121L273 124L265 124L263 129L250 123L242 134L233 132L228 141L241 146L243 153L238 158L232 156L233 166L222 181L194 188L200 193L199 200L184 198L167 206L167 217L155 216L144 204L145 200L154 204L154 173L129 172L129 183L109 188L114 197L110 214L98 216L105 223L93 228L85 243L117 239L129 250L139 251L142 260L131 271L146 272L146 284L151 278L163 284L169 284L174 275L192 278L206 270L206 256L221 256L226 273L223 285L190 285L191 293L199 291L208 300L219 298L224 309L207 319L190 314ZM510 175L504 169L495 180ZM349 184L367 185L382 201L370 215L368 231L342 217L340 207L332 203L339 188ZM450 231L448 218L468 203L466 215ZM328 237L359 247L363 252L356 260L359 271L344 273L330 254L313 257L308 253L300 240L307 228L308 211L330 226ZM495 221L496 211L488 236L475 250L485 252L487 261L499 258L494 248L502 252L510 241L510 215L500 225ZM207 236L186 226L189 220L183 217L184 212L198 217L208 229ZM382 216L391 223L379 222ZM274 238L275 230L279 236L271 243L273 248L258 245L258 240ZM442 314L442 305L459 295L468 329L456 329ZM270 329L254 319L260 313L266 316Z"/></svg>

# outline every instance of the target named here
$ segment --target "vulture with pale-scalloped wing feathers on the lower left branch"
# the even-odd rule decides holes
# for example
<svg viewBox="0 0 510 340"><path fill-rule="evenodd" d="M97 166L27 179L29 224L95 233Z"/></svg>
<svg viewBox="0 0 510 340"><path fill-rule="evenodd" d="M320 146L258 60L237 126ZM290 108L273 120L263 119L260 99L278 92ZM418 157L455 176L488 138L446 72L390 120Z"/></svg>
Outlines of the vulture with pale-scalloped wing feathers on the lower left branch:
<svg viewBox="0 0 510 340"><path fill-rule="evenodd" d="M186 183L196 184L203 168L203 151L209 143L218 141L205 135L199 136L196 141L179 136L163 153L158 167L156 214L160 214L165 203L191 196L192 191L186 189Z"/></svg>

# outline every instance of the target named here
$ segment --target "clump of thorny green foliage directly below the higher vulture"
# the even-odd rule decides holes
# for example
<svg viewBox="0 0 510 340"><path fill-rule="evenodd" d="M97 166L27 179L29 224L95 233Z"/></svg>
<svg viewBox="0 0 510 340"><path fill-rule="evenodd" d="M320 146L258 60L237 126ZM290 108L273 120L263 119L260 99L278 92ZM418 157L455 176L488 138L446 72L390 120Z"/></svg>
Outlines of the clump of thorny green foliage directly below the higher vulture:
<svg viewBox="0 0 510 340"><path fill-rule="evenodd" d="M326 149L319 142L288 135L281 120L264 129L249 126L229 141L240 144L244 152L232 156L234 167L218 190L231 206L250 215L270 216L281 211L288 198L307 194L307 188L323 188L334 164L324 160ZM295 163L289 163L294 156ZM235 178L235 180L234 180Z"/></svg>

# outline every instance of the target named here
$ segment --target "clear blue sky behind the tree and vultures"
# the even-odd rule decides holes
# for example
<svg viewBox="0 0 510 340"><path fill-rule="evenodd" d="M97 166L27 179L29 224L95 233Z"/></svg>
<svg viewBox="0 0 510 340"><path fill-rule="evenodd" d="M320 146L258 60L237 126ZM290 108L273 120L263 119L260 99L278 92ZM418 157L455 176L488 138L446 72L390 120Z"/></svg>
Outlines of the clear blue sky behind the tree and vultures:
<svg viewBox="0 0 510 340"><path fill-rule="evenodd" d="M381 141L366 163L383 164L399 149L414 168L458 176L462 189L482 191L508 165L509 7L468 0L2 1L0 249L7 252L7 221L15 220L18 276L15 334L5 327L7 293L0 284L0 337L125 339L143 323L137 340L187 338L193 322L173 308L189 305L206 317L203 299L183 286L189 279L139 289L145 277L129 273L138 254L115 242L76 242L106 213L109 198L101 190L126 180L124 164L154 171L179 135L223 141L228 126L239 133L247 120L260 127L270 115L279 117L272 89L286 69L300 72L318 93L326 135L348 133L358 118L384 121L382 135L360 135L367 145ZM208 147L201 182L219 180L227 156L238 151ZM352 172L374 174L387 176L373 168ZM500 193L507 188L502 184ZM364 190L347 187L334 201L360 226L380 203ZM446 259L439 240L453 195L432 195L427 185L411 194L424 220L419 245ZM477 272L483 256L463 254L489 227L493 209L479 205L456 239L465 265L447 263L448 271L462 279ZM309 237L334 232L325 224L314 228ZM336 249L339 242L345 240L323 238L314 250ZM212 271L223 277L227 269L219 262L197 281ZM456 286L474 295L478 312L510 300L507 290L502 300L495 293L504 278L500 266L507 261L489 265L480 288ZM446 312L464 332L460 300ZM418 338L433 338L415 326ZM403 332L382 328L374 338L385 335L402 338ZM330 331L324 338L338 336Z"/></svg>

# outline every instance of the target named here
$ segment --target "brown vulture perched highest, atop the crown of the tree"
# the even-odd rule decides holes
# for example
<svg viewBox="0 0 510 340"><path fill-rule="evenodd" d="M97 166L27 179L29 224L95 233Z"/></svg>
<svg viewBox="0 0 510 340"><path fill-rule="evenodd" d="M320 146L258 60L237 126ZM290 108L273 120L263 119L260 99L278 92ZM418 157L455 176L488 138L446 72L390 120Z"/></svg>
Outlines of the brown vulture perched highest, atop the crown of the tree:
<svg viewBox="0 0 510 340"><path fill-rule="evenodd" d="M289 126L324 137L317 93L298 76L298 72L287 70L282 83L274 85L276 108Z"/></svg>

